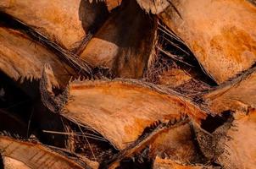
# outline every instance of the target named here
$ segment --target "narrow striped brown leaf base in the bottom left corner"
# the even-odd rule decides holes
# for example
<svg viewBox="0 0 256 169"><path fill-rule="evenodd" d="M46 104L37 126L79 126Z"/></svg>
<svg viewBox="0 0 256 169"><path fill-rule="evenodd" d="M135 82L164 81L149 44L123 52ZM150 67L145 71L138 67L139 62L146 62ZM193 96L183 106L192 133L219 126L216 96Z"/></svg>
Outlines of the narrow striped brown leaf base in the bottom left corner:
<svg viewBox="0 0 256 169"><path fill-rule="evenodd" d="M41 144L24 142L6 136L0 136L0 150L3 157L7 156L21 161L31 168L91 168L81 159L75 157L70 159L67 155L61 155Z"/></svg>

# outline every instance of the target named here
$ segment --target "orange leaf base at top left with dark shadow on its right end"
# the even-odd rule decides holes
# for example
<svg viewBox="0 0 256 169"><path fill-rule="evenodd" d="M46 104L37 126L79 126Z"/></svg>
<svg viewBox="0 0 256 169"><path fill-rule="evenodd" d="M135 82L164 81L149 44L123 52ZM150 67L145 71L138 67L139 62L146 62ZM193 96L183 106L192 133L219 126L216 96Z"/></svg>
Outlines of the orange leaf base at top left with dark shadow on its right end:
<svg viewBox="0 0 256 169"><path fill-rule="evenodd" d="M4 7L4 6L3 6ZM52 41L71 48L88 33L88 27L108 15L104 3L86 0L9 1L3 12L34 26Z"/></svg>

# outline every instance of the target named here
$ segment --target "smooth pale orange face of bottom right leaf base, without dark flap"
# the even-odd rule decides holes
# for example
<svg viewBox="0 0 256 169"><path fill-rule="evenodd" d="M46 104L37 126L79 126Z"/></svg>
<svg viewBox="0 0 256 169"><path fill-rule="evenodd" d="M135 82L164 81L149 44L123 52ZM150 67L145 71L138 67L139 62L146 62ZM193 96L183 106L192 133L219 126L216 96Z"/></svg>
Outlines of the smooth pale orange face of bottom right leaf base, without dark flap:
<svg viewBox="0 0 256 169"><path fill-rule="evenodd" d="M224 152L217 162L227 169L256 168L256 111L248 115L236 113L233 126L227 131Z"/></svg>

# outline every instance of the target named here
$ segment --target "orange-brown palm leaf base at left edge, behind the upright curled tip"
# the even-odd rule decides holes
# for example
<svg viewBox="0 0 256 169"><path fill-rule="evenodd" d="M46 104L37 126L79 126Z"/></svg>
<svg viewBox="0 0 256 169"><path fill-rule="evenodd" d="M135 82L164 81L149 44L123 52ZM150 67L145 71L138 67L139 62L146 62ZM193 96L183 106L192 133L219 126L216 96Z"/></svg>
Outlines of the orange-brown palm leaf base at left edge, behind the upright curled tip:
<svg viewBox="0 0 256 169"><path fill-rule="evenodd" d="M64 86L75 71L45 47L25 34L0 27L0 69L14 80L41 79L44 64L53 66L58 83ZM54 84L56 84L54 82Z"/></svg>

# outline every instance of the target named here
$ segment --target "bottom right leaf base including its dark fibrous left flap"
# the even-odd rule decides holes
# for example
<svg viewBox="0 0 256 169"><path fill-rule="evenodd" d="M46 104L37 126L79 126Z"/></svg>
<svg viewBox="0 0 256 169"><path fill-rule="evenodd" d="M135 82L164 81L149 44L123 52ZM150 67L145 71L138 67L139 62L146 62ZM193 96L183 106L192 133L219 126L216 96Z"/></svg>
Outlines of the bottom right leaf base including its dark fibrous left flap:
<svg viewBox="0 0 256 169"><path fill-rule="evenodd" d="M197 128L198 144L209 161L223 168L255 168L256 113L236 112L212 134Z"/></svg>

